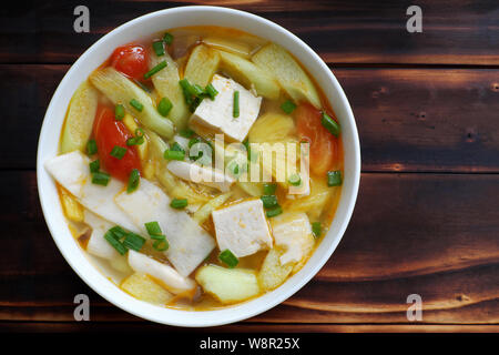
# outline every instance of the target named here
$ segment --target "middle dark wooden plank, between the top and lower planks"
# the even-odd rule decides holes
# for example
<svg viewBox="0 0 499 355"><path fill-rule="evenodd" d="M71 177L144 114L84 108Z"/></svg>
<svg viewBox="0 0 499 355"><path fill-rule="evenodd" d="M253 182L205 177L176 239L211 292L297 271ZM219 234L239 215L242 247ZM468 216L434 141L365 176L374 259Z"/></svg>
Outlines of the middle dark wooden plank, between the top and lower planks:
<svg viewBox="0 0 499 355"><path fill-rule="evenodd" d="M1 169L35 166L44 111L68 68L0 65ZM356 116L364 171L499 172L499 69L333 71Z"/></svg>

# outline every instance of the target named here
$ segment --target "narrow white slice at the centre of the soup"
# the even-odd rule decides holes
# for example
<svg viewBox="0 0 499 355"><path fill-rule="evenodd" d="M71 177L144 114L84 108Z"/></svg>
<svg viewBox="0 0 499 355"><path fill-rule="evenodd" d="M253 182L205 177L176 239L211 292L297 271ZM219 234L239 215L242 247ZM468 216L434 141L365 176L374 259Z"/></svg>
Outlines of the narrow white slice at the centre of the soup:
<svg viewBox="0 0 499 355"><path fill-rule="evenodd" d="M166 168L177 178L227 192L235 180L222 171L196 163L171 161Z"/></svg>

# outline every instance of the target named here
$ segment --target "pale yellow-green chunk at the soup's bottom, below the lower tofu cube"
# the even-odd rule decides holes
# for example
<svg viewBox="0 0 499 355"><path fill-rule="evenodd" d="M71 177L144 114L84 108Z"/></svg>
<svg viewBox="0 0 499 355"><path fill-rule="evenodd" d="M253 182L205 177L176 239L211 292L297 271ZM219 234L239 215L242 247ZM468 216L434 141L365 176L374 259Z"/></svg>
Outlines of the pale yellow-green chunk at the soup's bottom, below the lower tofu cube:
<svg viewBox="0 0 499 355"><path fill-rule="evenodd" d="M224 304L241 302L259 294L256 273L252 270L208 265L201 267L195 278L205 292Z"/></svg>

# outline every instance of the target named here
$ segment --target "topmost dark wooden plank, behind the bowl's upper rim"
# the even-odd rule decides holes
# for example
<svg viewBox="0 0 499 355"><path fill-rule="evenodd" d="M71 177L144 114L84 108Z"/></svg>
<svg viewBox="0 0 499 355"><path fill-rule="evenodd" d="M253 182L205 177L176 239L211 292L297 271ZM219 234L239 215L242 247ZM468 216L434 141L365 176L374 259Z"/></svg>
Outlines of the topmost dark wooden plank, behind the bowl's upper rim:
<svg viewBox="0 0 499 355"><path fill-rule="evenodd" d="M0 62L70 63L115 27L183 4L214 4L267 18L307 42L328 63L499 65L497 1L418 1L422 33L406 30L407 2L214 0L86 1L90 33L73 31L79 1L9 3L0 14Z"/></svg>

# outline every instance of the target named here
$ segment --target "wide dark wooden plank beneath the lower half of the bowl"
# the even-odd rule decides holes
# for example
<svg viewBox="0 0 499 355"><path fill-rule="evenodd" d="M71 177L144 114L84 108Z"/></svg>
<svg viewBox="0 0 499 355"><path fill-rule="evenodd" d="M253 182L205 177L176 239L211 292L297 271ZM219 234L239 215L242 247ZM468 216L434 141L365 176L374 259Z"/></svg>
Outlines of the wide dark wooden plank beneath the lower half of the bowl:
<svg viewBox="0 0 499 355"><path fill-rule="evenodd" d="M0 172L0 320L71 321L89 294L94 321L138 321L89 290L60 256L38 204L35 174ZM499 323L499 175L361 178L350 225L326 266L283 305L249 322L401 323L420 294L424 322ZM22 225L20 230L19 226Z"/></svg>

